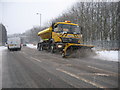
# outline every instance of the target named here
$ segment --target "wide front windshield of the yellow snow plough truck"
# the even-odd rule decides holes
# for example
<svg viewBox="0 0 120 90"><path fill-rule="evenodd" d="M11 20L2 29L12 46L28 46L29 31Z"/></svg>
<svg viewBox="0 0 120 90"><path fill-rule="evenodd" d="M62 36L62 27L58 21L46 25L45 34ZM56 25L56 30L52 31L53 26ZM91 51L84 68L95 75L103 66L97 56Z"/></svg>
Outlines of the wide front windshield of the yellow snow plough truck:
<svg viewBox="0 0 120 90"><path fill-rule="evenodd" d="M58 24L54 31L58 33L80 34L80 27L77 25Z"/></svg>

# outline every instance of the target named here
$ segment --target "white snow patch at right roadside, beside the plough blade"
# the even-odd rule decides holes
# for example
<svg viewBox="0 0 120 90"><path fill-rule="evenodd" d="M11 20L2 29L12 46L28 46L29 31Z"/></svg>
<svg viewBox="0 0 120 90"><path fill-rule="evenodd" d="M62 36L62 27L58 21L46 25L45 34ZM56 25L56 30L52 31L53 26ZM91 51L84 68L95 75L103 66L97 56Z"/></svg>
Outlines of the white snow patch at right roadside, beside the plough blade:
<svg viewBox="0 0 120 90"><path fill-rule="evenodd" d="M97 56L101 60L116 61L118 62L118 51L96 51Z"/></svg>

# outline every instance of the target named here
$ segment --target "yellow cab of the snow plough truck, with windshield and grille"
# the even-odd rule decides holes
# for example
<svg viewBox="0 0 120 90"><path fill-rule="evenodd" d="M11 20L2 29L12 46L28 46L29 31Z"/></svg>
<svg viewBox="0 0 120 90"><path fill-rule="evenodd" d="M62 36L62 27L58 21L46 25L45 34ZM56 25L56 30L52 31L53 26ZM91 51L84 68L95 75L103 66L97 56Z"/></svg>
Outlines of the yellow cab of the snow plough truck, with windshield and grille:
<svg viewBox="0 0 120 90"><path fill-rule="evenodd" d="M57 22L53 26L52 38L55 42L82 43L81 27L70 22Z"/></svg>

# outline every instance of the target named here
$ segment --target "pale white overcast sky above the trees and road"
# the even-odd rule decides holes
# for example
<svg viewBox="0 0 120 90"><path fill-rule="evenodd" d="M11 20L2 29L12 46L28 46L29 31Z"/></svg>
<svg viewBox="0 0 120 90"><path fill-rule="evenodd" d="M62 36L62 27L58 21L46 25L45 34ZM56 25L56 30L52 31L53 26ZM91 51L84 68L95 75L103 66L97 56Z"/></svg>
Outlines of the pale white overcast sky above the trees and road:
<svg viewBox="0 0 120 90"><path fill-rule="evenodd" d="M23 33L33 26L41 26L52 18L65 12L78 0L1 0L0 23L3 23L8 34Z"/></svg>

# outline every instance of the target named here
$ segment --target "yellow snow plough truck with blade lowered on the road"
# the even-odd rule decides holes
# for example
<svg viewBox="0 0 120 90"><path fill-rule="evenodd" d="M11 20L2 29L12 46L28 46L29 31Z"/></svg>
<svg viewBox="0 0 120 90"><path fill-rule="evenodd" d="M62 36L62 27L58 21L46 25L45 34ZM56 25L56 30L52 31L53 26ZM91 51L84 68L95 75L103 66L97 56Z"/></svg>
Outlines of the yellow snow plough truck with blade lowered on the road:
<svg viewBox="0 0 120 90"><path fill-rule="evenodd" d="M48 50L51 53L60 52L62 57L70 56L74 51L82 49L91 50L93 45L84 45L81 27L70 21L56 22L51 27L38 32L40 42L37 45L39 51Z"/></svg>

